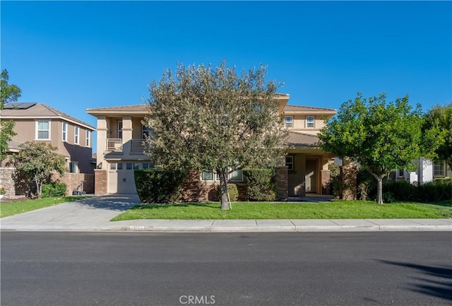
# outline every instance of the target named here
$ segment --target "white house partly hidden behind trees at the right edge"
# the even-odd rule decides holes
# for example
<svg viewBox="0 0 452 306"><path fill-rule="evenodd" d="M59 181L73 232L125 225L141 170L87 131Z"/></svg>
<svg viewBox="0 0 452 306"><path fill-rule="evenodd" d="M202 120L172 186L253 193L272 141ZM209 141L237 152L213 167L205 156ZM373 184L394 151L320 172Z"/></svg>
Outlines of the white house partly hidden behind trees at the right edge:
<svg viewBox="0 0 452 306"><path fill-rule="evenodd" d="M424 184L452 177L451 167L444 160L427 160L420 158L413 162L417 168L415 171L398 169L391 172L393 180L406 180L410 183Z"/></svg>

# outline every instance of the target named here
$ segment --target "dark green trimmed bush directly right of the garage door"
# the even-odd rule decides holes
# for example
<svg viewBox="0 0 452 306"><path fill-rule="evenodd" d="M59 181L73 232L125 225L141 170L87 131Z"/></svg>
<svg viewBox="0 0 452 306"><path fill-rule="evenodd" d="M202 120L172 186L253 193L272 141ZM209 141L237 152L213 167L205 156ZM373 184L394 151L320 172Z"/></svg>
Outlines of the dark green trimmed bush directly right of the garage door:
<svg viewBox="0 0 452 306"><path fill-rule="evenodd" d="M182 170L135 170L136 191L142 203L168 203L179 199L186 172Z"/></svg>

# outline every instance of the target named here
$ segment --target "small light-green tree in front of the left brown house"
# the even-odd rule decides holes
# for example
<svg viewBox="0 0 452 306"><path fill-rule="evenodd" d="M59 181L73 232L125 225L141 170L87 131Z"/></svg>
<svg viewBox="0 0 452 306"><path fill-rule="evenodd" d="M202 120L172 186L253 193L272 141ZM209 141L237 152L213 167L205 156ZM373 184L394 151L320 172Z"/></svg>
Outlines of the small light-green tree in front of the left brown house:
<svg viewBox="0 0 452 306"><path fill-rule="evenodd" d="M42 184L51 181L52 172L62 175L66 171L66 160L54 152L57 148L44 142L27 141L19 148L13 160L16 170L35 182L37 197L41 198Z"/></svg>

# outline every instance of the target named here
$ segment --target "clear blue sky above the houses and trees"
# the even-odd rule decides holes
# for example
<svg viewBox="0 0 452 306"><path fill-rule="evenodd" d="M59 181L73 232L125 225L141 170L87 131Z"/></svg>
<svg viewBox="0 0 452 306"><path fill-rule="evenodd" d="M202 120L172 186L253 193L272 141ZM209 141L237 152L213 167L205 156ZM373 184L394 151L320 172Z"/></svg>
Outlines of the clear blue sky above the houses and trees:
<svg viewBox="0 0 452 306"><path fill-rule="evenodd" d="M451 1L1 1L1 69L42 102L96 125L183 64L268 65L292 105L339 109L386 92L452 102Z"/></svg>

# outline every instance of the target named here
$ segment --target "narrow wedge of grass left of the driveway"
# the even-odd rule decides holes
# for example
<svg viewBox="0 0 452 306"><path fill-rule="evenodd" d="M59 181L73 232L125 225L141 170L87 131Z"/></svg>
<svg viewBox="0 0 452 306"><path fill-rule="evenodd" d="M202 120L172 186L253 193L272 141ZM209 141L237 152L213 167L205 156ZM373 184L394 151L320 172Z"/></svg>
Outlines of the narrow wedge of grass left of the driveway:
<svg viewBox="0 0 452 306"><path fill-rule="evenodd" d="M70 201L85 199L87 196L57 196L45 199L33 199L24 201L13 201L11 203L0 204L0 218L13 216L18 213L34 211L35 209L53 206Z"/></svg>

